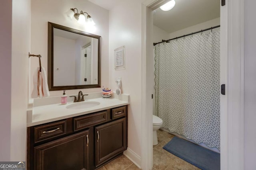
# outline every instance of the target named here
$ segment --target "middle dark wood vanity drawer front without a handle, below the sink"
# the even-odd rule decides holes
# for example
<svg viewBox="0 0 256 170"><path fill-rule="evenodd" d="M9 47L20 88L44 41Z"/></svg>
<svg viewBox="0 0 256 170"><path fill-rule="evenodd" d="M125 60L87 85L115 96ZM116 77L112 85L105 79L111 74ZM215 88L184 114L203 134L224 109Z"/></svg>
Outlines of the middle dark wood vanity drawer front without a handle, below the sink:
<svg viewBox="0 0 256 170"><path fill-rule="evenodd" d="M92 115L86 115L82 117L74 118L74 131L84 129L98 123L103 123L107 121L107 111L101 111L99 113L94 113Z"/></svg>

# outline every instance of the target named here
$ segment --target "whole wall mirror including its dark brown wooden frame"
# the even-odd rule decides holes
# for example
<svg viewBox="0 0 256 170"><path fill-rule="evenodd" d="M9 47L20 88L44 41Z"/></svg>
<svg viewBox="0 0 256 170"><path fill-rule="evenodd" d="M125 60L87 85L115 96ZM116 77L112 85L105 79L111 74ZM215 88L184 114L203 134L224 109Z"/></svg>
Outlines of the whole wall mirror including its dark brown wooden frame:
<svg viewBox="0 0 256 170"><path fill-rule="evenodd" d="M100 87L100 36L48 22L50 91Z"/></svg>

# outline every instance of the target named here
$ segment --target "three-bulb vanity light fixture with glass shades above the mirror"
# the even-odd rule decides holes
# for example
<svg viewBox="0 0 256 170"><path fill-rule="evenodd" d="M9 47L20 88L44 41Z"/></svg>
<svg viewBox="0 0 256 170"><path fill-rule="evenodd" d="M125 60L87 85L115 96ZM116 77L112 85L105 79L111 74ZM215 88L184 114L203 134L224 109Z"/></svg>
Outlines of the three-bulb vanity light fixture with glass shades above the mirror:
<svg viewBox="0 0 256 170"><path fill-rule="evenodd" d="M68 18L76 18L76 20L78 20L78 23L81 24L88 24L88 25L95 25L94 21L92 20L92 17L87 13L87 12L83 12L81 11L80 13L78 13L78 9L77 8L70 8L70 10L68 10L68 12L66 12ZM85 17L84 14L87 14L87 17Z"/></svg>

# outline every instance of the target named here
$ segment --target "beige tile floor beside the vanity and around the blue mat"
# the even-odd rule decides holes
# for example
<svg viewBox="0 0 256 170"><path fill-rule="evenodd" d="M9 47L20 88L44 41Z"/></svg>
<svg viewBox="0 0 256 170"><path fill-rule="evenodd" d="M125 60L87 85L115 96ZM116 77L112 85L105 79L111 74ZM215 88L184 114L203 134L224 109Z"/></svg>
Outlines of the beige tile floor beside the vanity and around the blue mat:
<svg viewBox="0 0 256 170"><path fill-rule="evenodd" d="M200 170L196 166L182 160L181 158L164 150L166 145L174 136L159 129L157 131L158 145L153 146L153 169L152 170ZM98 170L140 170L126 156L122 155Z"/></svg>

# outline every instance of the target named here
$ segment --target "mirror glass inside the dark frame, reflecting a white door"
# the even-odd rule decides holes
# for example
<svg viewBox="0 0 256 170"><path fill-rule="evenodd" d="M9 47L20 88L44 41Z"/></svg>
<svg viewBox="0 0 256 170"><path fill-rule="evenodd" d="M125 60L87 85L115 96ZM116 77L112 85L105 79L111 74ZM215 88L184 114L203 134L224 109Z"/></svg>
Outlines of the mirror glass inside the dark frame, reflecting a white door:
<svg viewBox="0 0 256 170"><path fill-rule="evenodd" d="M54 86L98 84L98 39L57 28L53 31Z"/></svg>

